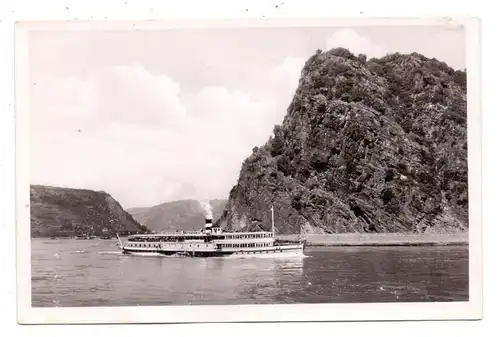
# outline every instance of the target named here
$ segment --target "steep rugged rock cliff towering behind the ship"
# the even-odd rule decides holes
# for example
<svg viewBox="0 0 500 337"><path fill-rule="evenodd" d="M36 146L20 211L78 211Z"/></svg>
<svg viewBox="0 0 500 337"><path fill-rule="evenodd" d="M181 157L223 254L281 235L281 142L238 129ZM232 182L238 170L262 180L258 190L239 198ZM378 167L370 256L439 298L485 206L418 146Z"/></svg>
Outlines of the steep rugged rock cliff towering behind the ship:
<svg viewBox="0 0 500 337"><path fill-rule="evenodd" d="M346 49L305 64L281 126L244 161L219 224L277 233L465 231L465 72Z"/></svg>

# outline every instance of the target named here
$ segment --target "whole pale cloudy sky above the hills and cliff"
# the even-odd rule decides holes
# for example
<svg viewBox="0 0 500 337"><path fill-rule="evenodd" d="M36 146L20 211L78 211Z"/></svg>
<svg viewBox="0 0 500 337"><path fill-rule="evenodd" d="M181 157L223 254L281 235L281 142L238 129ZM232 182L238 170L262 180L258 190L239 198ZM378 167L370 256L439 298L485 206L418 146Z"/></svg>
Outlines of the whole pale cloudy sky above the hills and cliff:
<svg viewBox="0 0 500 337"><path fill-rule="evenodd" d="M31 183L105 190L125 208L227 198L317 49L419 52L463 69L464 37L432 27L32 32Z"/></svg>

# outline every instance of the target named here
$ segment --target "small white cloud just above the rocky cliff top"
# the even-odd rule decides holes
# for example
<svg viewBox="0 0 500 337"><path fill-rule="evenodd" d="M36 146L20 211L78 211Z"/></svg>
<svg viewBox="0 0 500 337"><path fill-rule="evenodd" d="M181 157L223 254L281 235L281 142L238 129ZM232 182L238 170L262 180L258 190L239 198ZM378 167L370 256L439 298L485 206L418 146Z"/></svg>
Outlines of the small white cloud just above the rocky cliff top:
<svg viewBox="0 0 500 337"><path fill-rule="evenodd" d="M369 38L359 35L352 29L336 31L326 40L328 49L343 47L353 54L365 54L368 58L382 57L386 54L383 46L373 43Z"/></svg>

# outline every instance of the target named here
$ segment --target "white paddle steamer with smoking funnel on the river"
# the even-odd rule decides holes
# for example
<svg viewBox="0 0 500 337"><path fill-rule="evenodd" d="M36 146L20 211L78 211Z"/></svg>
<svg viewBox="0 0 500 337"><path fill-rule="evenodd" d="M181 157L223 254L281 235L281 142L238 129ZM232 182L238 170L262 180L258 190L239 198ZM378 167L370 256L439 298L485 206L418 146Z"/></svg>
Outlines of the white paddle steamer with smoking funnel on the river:
<svg viewBox="0 0 500 337"><path fill-rule="evenodd" d="M274 210L271 232L224 232L212 224L211 216L205 219L205 228L199 232L137 234L123 244L124 254L166 255L192 257L272 257L303 256L304 242L281 243L274 235Z"/></svg>

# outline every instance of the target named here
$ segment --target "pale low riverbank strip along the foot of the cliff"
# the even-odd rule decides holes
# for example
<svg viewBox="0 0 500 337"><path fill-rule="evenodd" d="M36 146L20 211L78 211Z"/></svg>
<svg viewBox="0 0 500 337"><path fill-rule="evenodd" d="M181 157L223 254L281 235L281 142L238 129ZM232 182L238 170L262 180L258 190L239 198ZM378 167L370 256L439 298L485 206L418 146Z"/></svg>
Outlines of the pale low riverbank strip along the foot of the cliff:
<svg viewBox="0 0 500 337"><path fill-rule="evenodd" d="M400 234L400 233L348 233L277 235L279 240L305 239L308 246L447 246L468 245L468 233L453 234Z"/></svg>

